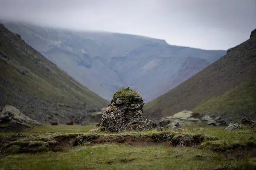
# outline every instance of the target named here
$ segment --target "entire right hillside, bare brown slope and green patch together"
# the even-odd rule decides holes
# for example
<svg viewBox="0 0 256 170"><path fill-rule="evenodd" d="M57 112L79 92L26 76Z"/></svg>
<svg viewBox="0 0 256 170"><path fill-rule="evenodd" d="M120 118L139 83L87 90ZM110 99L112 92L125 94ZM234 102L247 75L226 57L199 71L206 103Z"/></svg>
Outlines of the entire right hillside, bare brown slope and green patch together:
<svg viewBox="0 0 256 170"><path fill-rule="evenodd" d="M249 40L146 104L144 113L159 120L183 110L222 116L227 122L256 119L256 29Z"/></svg>

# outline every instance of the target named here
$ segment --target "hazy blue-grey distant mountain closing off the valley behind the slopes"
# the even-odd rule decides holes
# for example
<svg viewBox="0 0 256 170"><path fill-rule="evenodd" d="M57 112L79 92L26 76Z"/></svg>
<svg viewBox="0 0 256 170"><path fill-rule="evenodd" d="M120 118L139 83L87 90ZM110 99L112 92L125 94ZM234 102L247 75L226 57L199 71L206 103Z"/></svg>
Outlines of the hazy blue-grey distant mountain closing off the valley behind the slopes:
<svg viewBox="0 0 256 170"><path fill-rule="evenodd" d="M149 102L226 54L222 50L180 47L165 40L129 34L4 24L107 100L122 86L129 86Z"/></svg>

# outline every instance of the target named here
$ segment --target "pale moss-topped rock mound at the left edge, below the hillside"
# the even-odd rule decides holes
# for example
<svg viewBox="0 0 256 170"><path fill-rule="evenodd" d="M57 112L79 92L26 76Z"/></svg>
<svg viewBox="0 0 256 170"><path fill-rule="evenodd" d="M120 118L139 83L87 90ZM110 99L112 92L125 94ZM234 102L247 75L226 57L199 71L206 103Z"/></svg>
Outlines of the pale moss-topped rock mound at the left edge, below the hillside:
<svg viewBox="0 0 256 170"><path fill-rule="evenodd" d="M40 125L37 121L25 116L17 108L6 105L0 113L0 131L4 132L18 132L25 128Z"/></svg>

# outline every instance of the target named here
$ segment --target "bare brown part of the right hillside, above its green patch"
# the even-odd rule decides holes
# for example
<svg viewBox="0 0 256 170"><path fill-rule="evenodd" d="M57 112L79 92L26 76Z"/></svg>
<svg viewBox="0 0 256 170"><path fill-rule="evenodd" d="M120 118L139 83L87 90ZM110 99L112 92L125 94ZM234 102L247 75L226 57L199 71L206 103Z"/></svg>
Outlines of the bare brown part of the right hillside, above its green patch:
<svg viewBox="0 0 256 170"><path fill-rule="evenodd" d="M150 118L159 120L161 116L171 116L182 110L193 110L198 105L202 105L202 103L207 102L213 97L223 96L230 89L236 88L239 85L241 86L246 81L251 80L254 82L254 77L256 77L255 30L251 32L250 39L234 48L230 48L224 57L221 57L166 94L146 104L144 113ZM252 107L253 102L256 102L256 97L253 96L253 93L254 91L246 91L244 94L240 94L240 96L233 94L233 97L241 98L243 95L248 96L251 102L250 106ZM211 103L215 107L221 104L216 103L216 101ZM239 101L238 104L242 106L243 102ZM204 105L204 109L197 108L195 111L207 113L207 107L209 108L210 106ZM226 107L231 107L233 111L224 109L222 113L211 114L229 116L227 122L230 122L232 119L239 120L241 115L251 113L250 109L241 109L236 105L230 106L229 104ZM212 109L211 112L213 111L215 110ZM232 114L236 116L232 118ZM254 111L251 114L255 115Z"/></svg>

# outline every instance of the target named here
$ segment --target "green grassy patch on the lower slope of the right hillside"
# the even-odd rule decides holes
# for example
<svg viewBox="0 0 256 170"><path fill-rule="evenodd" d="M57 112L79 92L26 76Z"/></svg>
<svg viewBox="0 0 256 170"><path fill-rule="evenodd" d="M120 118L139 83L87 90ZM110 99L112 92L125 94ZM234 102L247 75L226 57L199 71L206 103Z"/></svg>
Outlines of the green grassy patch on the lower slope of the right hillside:
<svg viewBox="0 0 256 170"><path fill-rule="evenodd" d="M199 113L226 113L223 118L239 121L244 116L250 116L256 119L256 80L246 81L230 89L221 96L215 96L211 99L197 105L192 111ZM247 115L247 113L251 113Z"/></svg>

